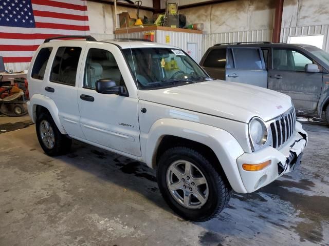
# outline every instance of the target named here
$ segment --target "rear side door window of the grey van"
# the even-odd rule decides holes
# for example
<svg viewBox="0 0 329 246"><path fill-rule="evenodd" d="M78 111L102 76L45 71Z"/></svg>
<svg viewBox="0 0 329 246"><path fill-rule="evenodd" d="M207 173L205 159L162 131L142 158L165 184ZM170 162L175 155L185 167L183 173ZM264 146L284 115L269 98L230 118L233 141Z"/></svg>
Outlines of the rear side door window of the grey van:
<svg viewBox="0 0 329 246"><path fill-rule="evenodd" d="M233 49L235 68L237 69L263 69L259 49Z"/></svg>

